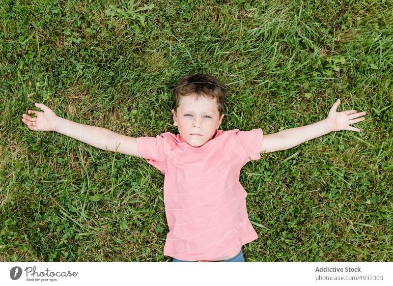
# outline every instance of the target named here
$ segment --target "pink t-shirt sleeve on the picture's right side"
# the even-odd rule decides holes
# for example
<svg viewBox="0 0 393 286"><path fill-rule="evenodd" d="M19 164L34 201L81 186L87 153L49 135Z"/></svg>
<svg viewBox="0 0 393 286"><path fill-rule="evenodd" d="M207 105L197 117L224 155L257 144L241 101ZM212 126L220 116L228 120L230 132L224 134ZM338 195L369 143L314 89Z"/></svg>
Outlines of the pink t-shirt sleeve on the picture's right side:
<svg viewBox="0 0 393 286"><path fill-rule="evenodd" d="M244 151L245 165L250 160L259 160L261 158L260 150L263 139L263 131L260 128L250 131L235 132L236 142Z"/></svg>

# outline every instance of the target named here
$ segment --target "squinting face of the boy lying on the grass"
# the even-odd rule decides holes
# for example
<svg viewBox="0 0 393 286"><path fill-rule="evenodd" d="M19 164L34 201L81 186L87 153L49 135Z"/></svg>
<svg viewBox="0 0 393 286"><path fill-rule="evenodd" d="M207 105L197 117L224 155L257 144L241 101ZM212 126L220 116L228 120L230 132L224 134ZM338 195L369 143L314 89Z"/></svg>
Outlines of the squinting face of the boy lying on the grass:
<svg viewBox="0 0 393 286"><path fill-rule="evenodd" d="M194 147L211 140L224 117L224 114L220 117L214 99L193 95L183 96L177 113L172 109L172 114L173 125L177 126L183 140Z"/></svg>

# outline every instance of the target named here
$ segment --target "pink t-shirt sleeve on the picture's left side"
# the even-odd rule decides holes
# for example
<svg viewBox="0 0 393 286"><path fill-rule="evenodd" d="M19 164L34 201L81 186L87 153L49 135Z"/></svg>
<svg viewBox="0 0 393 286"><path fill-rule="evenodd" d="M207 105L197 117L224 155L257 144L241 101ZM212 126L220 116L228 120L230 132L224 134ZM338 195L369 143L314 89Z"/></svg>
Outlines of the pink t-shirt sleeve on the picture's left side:
<svg viewBox="0 0 393 286"><path fill-rule="evenodd" d="M156 167L165 175L167 170L166 138L157 135L156 137L138 137L137 146L140 156L146 159L147 163Z"/></svg>

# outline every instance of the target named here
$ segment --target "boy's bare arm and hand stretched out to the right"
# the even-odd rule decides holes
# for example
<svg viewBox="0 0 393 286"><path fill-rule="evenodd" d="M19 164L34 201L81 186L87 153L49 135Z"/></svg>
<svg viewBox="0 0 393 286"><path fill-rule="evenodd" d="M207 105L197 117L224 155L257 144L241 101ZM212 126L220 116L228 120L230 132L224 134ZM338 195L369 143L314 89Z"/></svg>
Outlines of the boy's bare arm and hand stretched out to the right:
<svg viewBox="0 0 393 286"><path fill-rule="evenodd" d="M280 132L266 135L262 140L261 153L287 150L311 139L328 134L332 131L349 130L360 132L359 128L350 126L365 120L365 112L347 110L336 112L340 100L338 99L329 111L328 117L310 125L285 129Z"/></svg>

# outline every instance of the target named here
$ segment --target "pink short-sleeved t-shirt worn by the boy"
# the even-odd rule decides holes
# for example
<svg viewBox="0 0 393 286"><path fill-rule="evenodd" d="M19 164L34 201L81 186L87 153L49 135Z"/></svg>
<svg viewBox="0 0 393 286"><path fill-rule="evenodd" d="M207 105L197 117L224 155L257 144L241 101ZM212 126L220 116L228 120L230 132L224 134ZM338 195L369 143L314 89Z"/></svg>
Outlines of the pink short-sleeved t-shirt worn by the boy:
<svg viewBox="0 0 393 286"><path fill-rule="evenodd" d="M140 155L165 175L164 255L213 260L237 254L258 237L239 174L247 162L260 159L262 138L262 129L217 130L199 147L170 132L137 138Z"/></svg>

